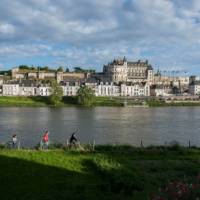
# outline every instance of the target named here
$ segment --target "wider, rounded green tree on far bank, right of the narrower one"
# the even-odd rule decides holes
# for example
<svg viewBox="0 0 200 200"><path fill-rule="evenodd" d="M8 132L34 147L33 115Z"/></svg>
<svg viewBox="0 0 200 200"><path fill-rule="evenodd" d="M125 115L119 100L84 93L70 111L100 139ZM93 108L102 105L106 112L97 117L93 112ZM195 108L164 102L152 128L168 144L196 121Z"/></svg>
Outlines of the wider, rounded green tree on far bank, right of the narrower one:
<svg viewBox="0 0 200 200"><path fill-rule="evenodd" d="M92 106L94 101L94 91L87 86L81 86L77 92L77 98L78 104Z"/></svg>

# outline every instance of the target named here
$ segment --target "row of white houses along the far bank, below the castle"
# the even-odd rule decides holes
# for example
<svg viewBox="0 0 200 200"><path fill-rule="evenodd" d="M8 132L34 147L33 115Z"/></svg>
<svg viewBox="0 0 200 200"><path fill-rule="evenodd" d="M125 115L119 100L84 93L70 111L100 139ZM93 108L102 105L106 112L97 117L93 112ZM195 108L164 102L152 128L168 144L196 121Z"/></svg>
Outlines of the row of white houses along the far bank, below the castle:
<svg viewBox="0 0 200 200"><path fill-rule="evenodd" d="M129 83L129 84L114 84L103 83L100 84L86 84L91 87L95 96L149 96L150 87L144 83ZM63 96L76 96L80 88L77 83L65 83L61 86L63 89ZM4 96L50 96L51 87L49 85L37 84L3 84Z"/></svg>

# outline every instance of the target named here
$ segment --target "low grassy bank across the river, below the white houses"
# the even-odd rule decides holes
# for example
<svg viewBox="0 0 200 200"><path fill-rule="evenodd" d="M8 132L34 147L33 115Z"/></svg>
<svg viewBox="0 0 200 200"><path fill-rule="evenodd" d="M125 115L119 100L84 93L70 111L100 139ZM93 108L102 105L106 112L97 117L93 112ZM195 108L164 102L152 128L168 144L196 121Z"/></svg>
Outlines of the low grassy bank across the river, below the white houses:
<svg viewBox="0 0 200 200"><path fill-rule="evenodd" d="M77 97L63 97L58 107L80 106ZM163 101L125 99L119 97L95 97L93 106L131 106L131 107L165 107L165 106L200 106L200 101ZM48 97L0 97L0 107L54 107Z"/></svg>

